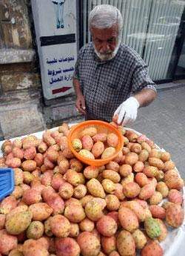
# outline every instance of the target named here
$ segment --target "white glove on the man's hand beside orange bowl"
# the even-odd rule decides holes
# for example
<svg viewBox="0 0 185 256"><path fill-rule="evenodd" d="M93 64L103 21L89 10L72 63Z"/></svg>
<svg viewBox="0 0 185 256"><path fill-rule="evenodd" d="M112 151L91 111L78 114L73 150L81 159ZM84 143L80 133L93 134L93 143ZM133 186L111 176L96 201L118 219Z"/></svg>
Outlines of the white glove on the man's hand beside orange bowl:
<svg viewBox="0 0 185 256"><path fill-rule="evenodd" d="M135 97L129 97L116 109L114 116L118 115L118 125L126 125L129 122L134 122L138 113L139 102Z"/></svg>

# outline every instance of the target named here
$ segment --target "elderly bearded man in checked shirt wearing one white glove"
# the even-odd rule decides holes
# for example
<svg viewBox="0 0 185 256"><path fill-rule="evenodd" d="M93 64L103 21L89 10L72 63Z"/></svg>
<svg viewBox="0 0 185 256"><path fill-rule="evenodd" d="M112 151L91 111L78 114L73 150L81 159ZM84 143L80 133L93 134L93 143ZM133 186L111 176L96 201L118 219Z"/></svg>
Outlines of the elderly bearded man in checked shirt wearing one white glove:
<svg viewBox="0 0 185 256"><path fill-rule="evenodd" d="M73 74L75 106L86 119L110 122L117 114L118 125L126 125L155 99L155 83L138 53L121 44L123 21L116 7L96 6L89 24L92 42L79 51Z"/></svg>

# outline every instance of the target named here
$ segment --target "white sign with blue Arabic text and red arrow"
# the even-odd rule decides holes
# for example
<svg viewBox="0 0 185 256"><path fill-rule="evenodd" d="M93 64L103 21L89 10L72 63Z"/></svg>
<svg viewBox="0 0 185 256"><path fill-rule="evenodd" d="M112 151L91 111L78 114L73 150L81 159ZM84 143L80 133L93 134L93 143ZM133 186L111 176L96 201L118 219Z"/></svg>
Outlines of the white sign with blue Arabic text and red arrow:
<svg viewBox="0 0 185 256"><path fill-rule="evenodd" d="M32 0L32 9L44 98L72 93L77 54L76 1Z"/></svg>

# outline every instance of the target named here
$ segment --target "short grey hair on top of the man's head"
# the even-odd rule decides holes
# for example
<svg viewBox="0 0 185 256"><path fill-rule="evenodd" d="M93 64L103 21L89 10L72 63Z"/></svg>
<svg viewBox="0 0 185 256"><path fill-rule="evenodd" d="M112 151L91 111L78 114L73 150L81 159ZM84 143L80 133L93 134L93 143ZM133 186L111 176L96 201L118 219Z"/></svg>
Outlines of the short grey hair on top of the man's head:
<svg viewBox="0 0 185 256"><path fill-rule="evenodd" d="M96 28L110 28L113 24L118 24L118 31L121 33L123 19L120 11L110 4L100 4L95 6L89 15L89 25Z"/></svg>

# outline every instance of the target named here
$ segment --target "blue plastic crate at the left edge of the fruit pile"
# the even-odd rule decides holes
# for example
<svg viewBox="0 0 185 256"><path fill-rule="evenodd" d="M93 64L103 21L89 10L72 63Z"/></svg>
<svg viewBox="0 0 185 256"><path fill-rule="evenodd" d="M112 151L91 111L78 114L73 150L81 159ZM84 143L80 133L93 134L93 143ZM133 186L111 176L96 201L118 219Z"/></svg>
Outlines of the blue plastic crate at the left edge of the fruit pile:
<svg viewBox="0 0 185 256"><path fill-rule="evenodd" d="M14 189L14 171L12 168L0 168L0 200L11 194Z"/></svg>

